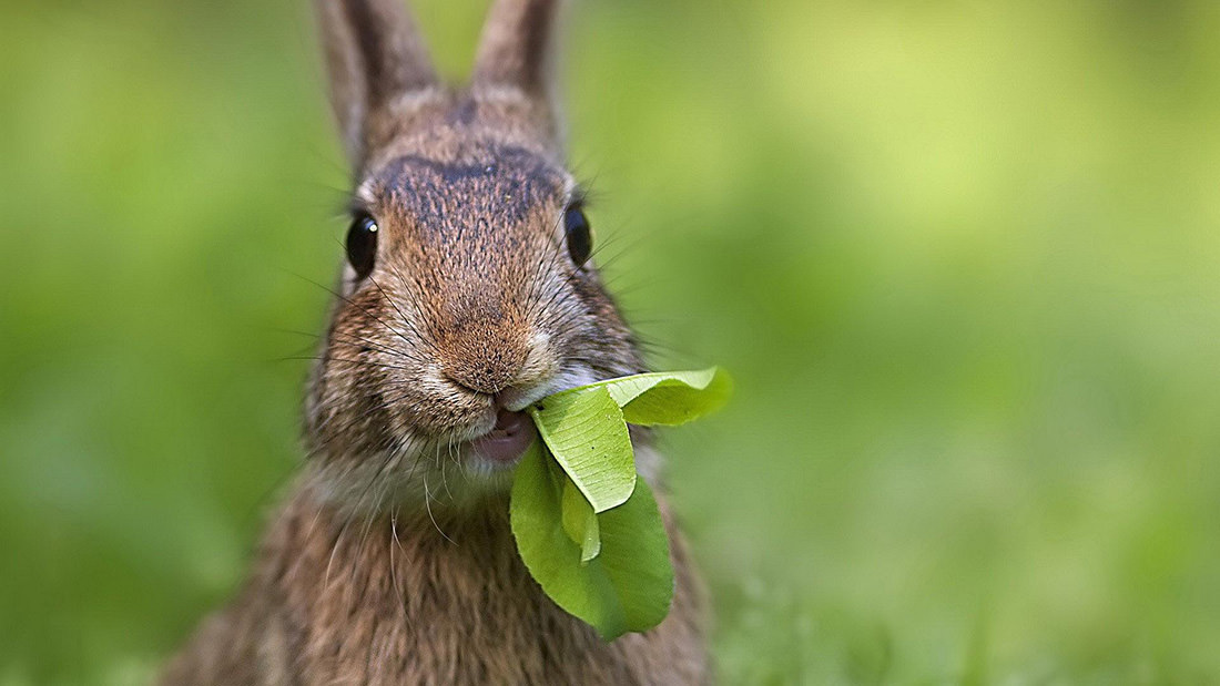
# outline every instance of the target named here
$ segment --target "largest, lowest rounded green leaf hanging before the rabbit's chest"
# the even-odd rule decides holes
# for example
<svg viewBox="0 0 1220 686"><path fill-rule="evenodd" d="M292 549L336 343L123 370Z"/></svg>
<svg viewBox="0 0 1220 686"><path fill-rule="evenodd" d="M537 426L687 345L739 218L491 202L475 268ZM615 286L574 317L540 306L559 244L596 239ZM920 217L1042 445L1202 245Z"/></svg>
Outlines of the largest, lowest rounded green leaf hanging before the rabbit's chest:
<svg viewBox="0 0 1220 686"><path fill-rule="evenodd" d="M512 483L512 535L529 574L555 604L608 641L656 626L673 599L673 568L648 484L640 479L625 503L597 515L601 553L581 564L582 546L564 526L566 479L551 464L534 444Z"/></svg>

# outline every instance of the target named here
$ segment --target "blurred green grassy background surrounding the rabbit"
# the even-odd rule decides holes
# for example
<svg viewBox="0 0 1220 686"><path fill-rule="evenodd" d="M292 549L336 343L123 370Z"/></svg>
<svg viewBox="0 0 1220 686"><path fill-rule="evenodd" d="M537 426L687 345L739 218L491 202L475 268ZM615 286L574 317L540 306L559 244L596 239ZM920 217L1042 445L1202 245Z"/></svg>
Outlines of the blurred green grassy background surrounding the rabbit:
<svg viewBox="0 0 1220 686"><path fill-rule="evenodd" d="M416 5L460 77L484 2ZM146 680L300 458L307 10L0 4L0 685ZM610 281L738 379L665 439L722 681L1220 680L1220 4L571 18Z"/></svg>

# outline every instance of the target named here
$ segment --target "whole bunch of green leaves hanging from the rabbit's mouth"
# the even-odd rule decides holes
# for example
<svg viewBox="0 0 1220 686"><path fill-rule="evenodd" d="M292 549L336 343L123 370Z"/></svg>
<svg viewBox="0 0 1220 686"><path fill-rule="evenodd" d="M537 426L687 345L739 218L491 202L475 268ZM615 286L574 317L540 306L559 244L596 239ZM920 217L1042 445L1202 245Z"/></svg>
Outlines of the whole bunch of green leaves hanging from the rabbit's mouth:
<svg viewBox="0 0 1220 686"><path fill-rule="evenodd" d="M517 551L543 592L603 638L656 626L673 599L669 536L627 424L684 424L731 392L712 367L599 381L529 408L542 440L512 483Z"/></svg>

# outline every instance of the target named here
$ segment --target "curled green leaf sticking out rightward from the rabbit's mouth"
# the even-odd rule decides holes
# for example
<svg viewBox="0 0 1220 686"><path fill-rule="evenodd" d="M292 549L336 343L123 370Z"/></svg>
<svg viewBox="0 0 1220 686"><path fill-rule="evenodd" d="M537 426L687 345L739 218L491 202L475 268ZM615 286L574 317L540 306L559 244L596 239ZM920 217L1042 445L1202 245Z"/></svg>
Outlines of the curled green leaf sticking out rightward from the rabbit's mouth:
<svg viewBox="0 0 1220 686"><path fill-rule="evenodd" d="M610 394L628 423L675 426L723 407L732 394L733 383L719 367L698 372L654 372L571 389L548 397L545 402L598 387Z"/></svg>

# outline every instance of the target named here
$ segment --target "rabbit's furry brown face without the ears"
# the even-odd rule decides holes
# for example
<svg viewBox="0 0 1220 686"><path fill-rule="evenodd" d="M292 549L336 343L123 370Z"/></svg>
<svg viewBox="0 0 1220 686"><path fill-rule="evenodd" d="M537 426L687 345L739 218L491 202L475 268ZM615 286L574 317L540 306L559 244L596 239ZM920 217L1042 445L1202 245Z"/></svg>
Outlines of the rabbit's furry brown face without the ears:
<svg viewBox="0 0 1220 686"><path fill-rule="evenodd" d="M642 368L587 261L572 177L505 111L438 97L354 194L306 422L349 502L500 490L532 437L515 413Z"/></svg>

